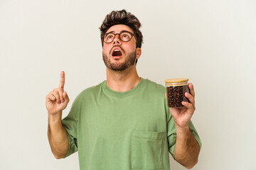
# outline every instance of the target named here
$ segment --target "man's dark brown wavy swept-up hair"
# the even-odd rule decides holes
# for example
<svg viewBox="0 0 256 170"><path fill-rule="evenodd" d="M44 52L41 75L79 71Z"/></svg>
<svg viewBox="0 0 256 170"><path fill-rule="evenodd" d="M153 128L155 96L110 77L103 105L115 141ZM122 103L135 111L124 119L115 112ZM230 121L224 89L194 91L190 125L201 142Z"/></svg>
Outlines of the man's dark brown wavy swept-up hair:
<svg viewBox="0 0 256 170"><path fill-rule="evenodd" d="M132 13L127 13L127 11L124 9L122 11L112 11L105 17L105 20L100 26L100 38L102 40L102 47L105 33L108 29L110 29L110 27L117 24L124 24L125 26L129 26L129 28L134 31L134 34L137 38L136 47L142 47L143 36L142 32L139 30L142 24L139 22L136 16L132 15Z"/></svg>

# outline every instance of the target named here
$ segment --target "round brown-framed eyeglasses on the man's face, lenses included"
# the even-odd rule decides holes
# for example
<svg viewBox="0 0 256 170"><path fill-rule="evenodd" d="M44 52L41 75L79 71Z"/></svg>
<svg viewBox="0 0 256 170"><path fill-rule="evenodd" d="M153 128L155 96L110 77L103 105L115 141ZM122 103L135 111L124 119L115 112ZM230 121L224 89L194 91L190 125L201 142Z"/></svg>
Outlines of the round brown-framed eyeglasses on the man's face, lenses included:
<svg viewBox="0 0 256 170"><path fill-rule="evenodd" d="M134 38L136 39L136 42L137 42L137 38L136 38L135 34L130 33L127 30L122 31L122 33L107 33L104 36L103 41L105 43L113 42L115 35L119 35L119 39L122 40L123 42L128 42L129 40L132 40L132 36L134 36Z"/></svg>

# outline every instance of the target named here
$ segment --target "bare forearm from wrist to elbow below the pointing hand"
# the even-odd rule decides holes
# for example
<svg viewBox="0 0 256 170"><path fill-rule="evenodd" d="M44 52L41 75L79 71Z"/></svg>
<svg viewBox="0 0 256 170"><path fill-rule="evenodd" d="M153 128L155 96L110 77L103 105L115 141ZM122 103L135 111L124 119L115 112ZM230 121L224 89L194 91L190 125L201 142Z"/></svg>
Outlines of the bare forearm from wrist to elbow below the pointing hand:
<svg viewBox="0 0 256 170"><path fill-rule="evenodd" d="M56 159L64 158L69 147L68 135L61 123L61 115L61 113L54 116L48 114L48 140Z"/></svg>

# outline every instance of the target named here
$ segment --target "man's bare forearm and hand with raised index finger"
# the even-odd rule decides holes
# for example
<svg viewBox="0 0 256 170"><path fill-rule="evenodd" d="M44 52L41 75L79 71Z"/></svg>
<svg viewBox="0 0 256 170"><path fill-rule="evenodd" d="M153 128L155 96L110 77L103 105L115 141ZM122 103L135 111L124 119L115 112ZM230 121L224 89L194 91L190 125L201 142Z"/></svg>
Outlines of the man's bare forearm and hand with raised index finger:
<svg viewBox="0 0 256 170"><path fill-rule="evenodd" d="M65 73L60 73L60 86L53 89L46 96L48 111L48 140L56 159L64 158L68 154L68 134L61 122L62 111L67 107L69 98L64 91Z"/></svg>

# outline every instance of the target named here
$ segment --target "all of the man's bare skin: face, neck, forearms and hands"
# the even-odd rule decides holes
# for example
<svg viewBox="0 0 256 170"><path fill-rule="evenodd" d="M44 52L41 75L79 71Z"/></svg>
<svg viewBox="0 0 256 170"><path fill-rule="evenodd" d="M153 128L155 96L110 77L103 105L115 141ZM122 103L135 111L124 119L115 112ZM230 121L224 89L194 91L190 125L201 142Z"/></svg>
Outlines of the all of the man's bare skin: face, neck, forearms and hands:
<svg viewBox="0 0 256 170"><path fill-rule="evenodd" d="M131 28L124 25L112 26L107 33L114 31L120 33L122 30L133 32ZM113 47L119 47L122 57L113 57ZM103 44L102 60L106 64L107 86L113 91L129 91L139 84L140 78L137 74L135 61L139 59L142 50L136 47L134 36L129 42L122 42L116 35L113 42ZM122 68L122 69L120 69ZM65 74L60 73L60 86L53 89L46 96L46 108L48 110L48 139L54 156L57 159L65 157L68 153L68 136L61 123L62 111L69 102L68 94L64 91ZM177 162L191 169L198 162L199 145L188 128L188 122L196 109L195 91L193 84L188 84L191 94L186 97L191 103L183 102L186 108L170 108L176 126L176 147L174 158Z"/></svg>

